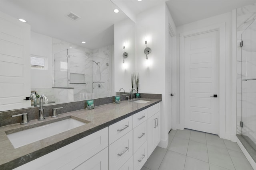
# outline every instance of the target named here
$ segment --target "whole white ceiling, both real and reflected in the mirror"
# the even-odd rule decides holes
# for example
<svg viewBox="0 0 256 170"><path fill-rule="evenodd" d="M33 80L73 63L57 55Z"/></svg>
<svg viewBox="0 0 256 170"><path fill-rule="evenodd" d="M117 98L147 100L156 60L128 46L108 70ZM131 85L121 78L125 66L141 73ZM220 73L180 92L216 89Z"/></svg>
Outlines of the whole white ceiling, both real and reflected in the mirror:
<svg viewBox="0 0 256 170"><path fill-rule="evenodd" d="M135 15L166 2L177 27L256 3L256 0L118 1ZM121 10L114 13L116 6L110 0L0 0L0 7L14 18L27 20L32 31L88 49L114 44L113 24L128 18ZM81 18L70 20L66 17L70 12Z"/></svg>

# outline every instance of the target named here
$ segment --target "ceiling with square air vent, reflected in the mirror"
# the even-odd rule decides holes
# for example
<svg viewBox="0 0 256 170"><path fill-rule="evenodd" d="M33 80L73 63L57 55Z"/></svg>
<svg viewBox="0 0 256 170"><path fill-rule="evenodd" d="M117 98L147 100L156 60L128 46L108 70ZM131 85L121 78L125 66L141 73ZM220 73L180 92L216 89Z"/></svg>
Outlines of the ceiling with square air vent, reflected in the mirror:
<svg viewBox="0 0 256 170"><path fill-rule="evenodd" d="M1 11L22 18L31 30L88 49L114 44L114 23L128 18L110 0L0 0ZM67 17L70 12L80 19ZM81 42L85 41L86 44Z"/></svg>

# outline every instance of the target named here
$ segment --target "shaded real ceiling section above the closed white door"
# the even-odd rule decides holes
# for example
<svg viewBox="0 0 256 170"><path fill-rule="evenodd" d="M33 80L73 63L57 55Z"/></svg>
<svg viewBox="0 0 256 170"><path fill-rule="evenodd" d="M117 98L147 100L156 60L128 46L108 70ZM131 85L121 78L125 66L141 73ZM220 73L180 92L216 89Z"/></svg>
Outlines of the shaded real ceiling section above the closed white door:
<svg viewBox="0 0 256 170"><path fill-rule="evenodd" d="M168 0L176 27L256 3L256 0Z"/></svg>

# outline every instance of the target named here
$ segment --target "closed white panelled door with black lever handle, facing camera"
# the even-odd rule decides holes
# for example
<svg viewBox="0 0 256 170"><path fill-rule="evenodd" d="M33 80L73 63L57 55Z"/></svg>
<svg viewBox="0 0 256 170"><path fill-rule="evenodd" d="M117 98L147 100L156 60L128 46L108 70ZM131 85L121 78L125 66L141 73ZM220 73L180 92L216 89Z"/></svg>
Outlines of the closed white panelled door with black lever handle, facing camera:
<svg viewBox="0 0 256 170"><path fill-rule="evenodd" d="M184 38L185 128L218 134L218 31Z"/></svg>

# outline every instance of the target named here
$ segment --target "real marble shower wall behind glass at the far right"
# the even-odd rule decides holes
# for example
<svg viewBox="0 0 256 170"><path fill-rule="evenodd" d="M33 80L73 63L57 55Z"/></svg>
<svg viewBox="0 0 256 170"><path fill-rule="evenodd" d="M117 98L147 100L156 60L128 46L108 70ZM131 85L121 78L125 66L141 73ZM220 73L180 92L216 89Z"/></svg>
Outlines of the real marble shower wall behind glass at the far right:
<svg viewBox="0 0 256 170"><path fill-rule="evenodd" d="M255 19L256 4L237 9L237 133L248 136L254 143L256 143L256 80L245 80L256 78ZM244 42L242 48L241 38ZM244 122L243 128L239 126L241 120Z"/></svg>

